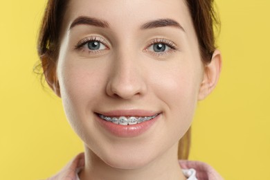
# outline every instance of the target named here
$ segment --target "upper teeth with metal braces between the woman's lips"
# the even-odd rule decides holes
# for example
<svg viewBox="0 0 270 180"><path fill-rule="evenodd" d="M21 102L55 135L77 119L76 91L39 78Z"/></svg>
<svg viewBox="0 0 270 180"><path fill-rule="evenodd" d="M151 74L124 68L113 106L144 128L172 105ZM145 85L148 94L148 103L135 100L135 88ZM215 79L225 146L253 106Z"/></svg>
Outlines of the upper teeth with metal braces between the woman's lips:
<svg viewBox="0 0 270 180"><path fill-rule="evenodd" d="M139 123L143 123L147 120L151 120L153 118L156 118L159 114L155 114L154 116L145 116L145 117L134 117L134 116L120 116L120 117L110 117L110 116L104 116L102 114L98 114L100 118L103 120L109 121L111 123L117 124L117 125L136 125Z"/></svg>

